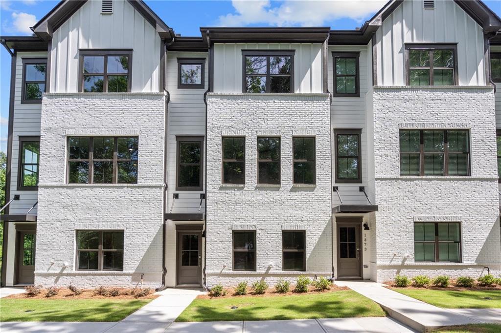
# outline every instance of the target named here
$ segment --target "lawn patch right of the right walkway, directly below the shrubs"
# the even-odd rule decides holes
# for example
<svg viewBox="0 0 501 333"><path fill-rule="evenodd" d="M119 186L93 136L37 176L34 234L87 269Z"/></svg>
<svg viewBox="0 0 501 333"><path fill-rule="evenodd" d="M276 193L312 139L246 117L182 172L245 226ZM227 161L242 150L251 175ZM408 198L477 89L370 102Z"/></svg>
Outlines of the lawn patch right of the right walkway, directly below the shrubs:
<svg viewBox="0 0 501 333"><path fill-rule="evenodd" d="M437 290L403 289L393 290L404 295L444 308L501 308L501 290ZM491 299L485 299L489 297Z"/></svg>

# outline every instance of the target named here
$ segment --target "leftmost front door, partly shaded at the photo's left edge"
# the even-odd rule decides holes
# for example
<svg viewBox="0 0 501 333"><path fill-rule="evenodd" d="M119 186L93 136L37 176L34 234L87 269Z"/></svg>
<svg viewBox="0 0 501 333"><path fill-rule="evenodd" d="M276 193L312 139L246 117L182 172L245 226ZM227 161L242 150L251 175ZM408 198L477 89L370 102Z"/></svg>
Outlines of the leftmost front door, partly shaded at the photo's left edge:
<svg viewBox="0 0 501 333"><path fill-rule="evenodd" d="M35 282L36 231L18 232L18 283Z"/></svg>

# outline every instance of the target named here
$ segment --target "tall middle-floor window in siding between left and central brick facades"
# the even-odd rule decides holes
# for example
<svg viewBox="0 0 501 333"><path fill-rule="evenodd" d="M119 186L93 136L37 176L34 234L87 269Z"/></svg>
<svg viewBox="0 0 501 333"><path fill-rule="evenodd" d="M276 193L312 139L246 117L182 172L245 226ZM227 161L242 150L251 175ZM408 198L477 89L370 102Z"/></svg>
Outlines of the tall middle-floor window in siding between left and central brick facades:
<svg viewBox="0 0 501 333"><path fill-rule="evenodd" d="M203 136L176 136L177 190L202 190Z"/></svg>

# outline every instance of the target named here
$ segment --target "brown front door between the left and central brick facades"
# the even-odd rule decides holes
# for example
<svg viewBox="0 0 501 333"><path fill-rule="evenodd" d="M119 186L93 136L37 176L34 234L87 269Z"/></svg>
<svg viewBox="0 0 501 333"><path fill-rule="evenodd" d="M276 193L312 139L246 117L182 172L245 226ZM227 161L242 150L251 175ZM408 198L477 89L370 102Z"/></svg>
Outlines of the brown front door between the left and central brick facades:
<svg viewBox="0 0 501 333"><path fill-rule="evenodd" d="M177 284L200 284L202 277L202 233L177 233Z"/></svg>

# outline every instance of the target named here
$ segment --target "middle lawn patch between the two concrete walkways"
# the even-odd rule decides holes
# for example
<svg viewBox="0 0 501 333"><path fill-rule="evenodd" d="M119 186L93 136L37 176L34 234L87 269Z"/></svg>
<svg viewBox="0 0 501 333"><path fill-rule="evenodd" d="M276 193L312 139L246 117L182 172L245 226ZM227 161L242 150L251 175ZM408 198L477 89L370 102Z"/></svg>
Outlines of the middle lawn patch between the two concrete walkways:
<svg viewBox="0 0 501 333"><path fill-rule="evenodd" d="M237 306L237 309L231 309ZM353 290L263 297L196 298L176 321L273 320L384 316L381 307Z"/></svg>

